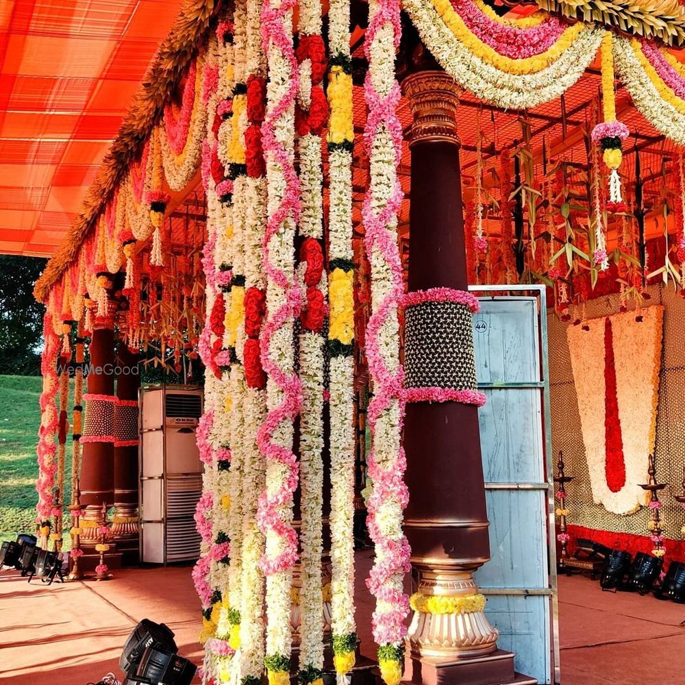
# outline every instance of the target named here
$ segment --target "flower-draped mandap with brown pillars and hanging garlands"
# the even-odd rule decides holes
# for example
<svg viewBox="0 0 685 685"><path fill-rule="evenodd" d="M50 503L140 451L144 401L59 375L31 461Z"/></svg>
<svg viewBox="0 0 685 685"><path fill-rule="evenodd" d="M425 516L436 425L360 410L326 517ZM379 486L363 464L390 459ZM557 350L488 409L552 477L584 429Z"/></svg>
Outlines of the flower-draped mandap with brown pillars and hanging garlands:
<svg viewBox="0 0 685 685"><path fill-rule="evenodd" d="M593 330L597 345L569 334L574 373L604 371L606 390L620 369L590 362L625 327L607 319L595 335L588 303L616 297L655 320L644 345L660 336L660 314L640 312L654 283L685 286L684 43L676 0L187 1L36 283L42 533L61 535L58 360L82 362L87 340L92 366L114 363L117 340L121 366L150 349L177 368L199 356L203 679L320 685L329 645L343 678L358 655L368 387L380 673L513 682L473 581L490 550L468 286L545 284L552 316ZM115 395L112 375L90 374L84 393L77 371L74 385L76 531L103 551L114 504L125 548L136 384ZM591 395L583 416L604 415ZM619 516L639 508L624 486L646 467L632 474L632 421L609 408L623 445L606 445L590 480ZM582 432L590 451L597 436Z"/></svg>

